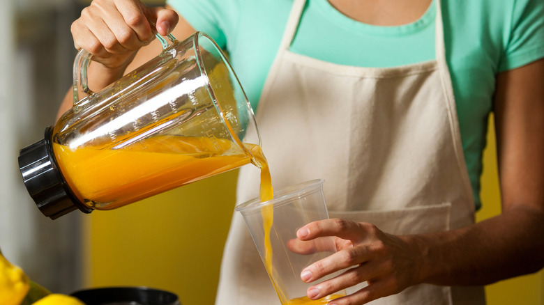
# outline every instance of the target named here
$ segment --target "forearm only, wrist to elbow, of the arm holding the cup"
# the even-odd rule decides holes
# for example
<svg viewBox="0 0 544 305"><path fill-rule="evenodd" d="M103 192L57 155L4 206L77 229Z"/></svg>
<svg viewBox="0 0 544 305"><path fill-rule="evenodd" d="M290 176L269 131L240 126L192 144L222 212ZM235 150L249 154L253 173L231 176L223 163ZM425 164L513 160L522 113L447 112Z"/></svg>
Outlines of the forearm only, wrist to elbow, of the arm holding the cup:
<svg viewBox="0 0 544 305"><path fill-rule="evenodd" d="M473 226L405 238L421 253L421 282L467 286L538 271L543 236L543 211L517 207Z"/></svg>

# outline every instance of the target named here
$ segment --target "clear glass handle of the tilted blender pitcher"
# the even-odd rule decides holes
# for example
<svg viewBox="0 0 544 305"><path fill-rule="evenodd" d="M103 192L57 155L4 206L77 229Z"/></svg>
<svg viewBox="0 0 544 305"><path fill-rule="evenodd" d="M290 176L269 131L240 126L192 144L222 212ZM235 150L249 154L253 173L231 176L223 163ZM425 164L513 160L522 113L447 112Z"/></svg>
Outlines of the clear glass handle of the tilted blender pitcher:
<svg viewBox="0 0 544 305"><path fill-rule="evenodd" d="M152 26L155 26L155 24L151 24ZM160 41L160 45L163 46L163 51L169 47L168 42L166 41L163 36L160 36L158 33L155 34L156 38ZM170 42L174 43L176 42L176 38L172 36L172 34L168 34L166 36ZM94 92L89 89L89 86L87 85L87 70L89 69L89 63L91 62L91 57L93 54L87 52L84 49L80 49L80 52L77 52L77 56L75 56L74 61L74 68L73 68L73 91L74 91L74 106L79 104L82 100L80 100L79 96L79 86L83 89L83 92L86 95L93 95Z"/></svg>

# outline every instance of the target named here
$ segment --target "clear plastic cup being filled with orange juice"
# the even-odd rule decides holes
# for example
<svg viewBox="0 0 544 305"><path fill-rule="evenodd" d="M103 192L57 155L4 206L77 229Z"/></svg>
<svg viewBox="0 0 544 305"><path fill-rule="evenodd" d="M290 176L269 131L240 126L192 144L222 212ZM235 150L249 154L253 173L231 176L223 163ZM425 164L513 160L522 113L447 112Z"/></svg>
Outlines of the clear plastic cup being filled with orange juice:
<svg viewBox="0 0 544 305"><path fill-rule="evenodd" d="M304 283L301 280L301 272L305 267L336 252L333 237L319 237L307 242L296 238L296 231L305 224L328 219L323 183L324 180L303 182L275 191L271 201L262 203L259 198L255 198L236 207L248 225L282 305L326 304L331 299L345 295L345 291L342 291L317 301L310 300L306 297L306 291L315 283ZM270 257L266 251L264 220L272 216L272 210L273 223L268 246L271 249Z"/></svg>

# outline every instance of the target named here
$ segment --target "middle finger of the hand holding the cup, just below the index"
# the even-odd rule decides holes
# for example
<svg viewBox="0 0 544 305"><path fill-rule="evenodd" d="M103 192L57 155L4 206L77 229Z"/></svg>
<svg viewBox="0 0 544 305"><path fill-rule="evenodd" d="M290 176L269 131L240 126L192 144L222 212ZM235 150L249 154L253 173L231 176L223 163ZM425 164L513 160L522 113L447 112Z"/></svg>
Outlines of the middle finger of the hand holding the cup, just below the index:
<svg viewBox="0 0 544 305"><path fill-rule="evenodd" d="M301 272L301 279L306 283L317 281L333 272L367 263L370 256L370 249L366 246L343 249L305 267Z"/></svg>

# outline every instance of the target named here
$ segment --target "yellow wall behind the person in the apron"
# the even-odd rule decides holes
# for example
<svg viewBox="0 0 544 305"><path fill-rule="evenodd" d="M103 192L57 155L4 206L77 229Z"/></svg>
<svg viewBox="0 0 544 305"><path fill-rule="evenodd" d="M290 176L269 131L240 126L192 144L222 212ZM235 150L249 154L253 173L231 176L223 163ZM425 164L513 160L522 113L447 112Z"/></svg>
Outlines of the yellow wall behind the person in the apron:
<svg viewBox="0 0 544 305"><path fill-rule="evenodd" d="M484 166L478 220L500 212L492 133ZM151 286L175 292L183 305L213 304L235 179L236 171L224 173L85 217L85 285ZM543 272L486 288L490 305L544 305L543 291Z"/></svg>

